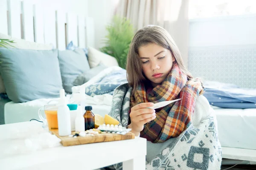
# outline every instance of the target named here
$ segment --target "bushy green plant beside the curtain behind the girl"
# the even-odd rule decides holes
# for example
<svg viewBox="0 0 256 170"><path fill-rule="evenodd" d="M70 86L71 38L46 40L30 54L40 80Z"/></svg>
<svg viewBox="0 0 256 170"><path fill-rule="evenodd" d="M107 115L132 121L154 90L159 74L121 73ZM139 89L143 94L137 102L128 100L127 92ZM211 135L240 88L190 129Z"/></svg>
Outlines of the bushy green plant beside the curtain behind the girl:
<svg viewBox="0 0 256 170"><path fill-rule="evenodd" d="M126 68L126 57L134 36L133 25L125 17L114 16L106 30L108 34L105 36L105 46L100 50L115 57L121 68Z"/></svg>

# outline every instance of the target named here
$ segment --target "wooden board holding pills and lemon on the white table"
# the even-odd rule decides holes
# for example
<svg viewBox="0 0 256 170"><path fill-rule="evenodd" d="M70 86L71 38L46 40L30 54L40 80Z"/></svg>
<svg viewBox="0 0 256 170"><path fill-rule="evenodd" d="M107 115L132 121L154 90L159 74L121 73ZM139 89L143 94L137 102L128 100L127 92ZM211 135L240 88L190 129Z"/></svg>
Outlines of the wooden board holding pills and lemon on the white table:
<svg viewBox="0 0 256 170"><path fill-rule="evenodd" d="M74 135L76 132L72 132ZM116 134L116 133L99 133L94 136L77 136L69 137L69 136L59 136L58 130L52 131L52 134L56 135L59 139L61 139L61 144L63 146L73 146L78 144L89 144L89 143L97 143L97 142L110 142L110 141L120 141L127 139L134 139L134 133L128 132L125 135Z"/></svg>

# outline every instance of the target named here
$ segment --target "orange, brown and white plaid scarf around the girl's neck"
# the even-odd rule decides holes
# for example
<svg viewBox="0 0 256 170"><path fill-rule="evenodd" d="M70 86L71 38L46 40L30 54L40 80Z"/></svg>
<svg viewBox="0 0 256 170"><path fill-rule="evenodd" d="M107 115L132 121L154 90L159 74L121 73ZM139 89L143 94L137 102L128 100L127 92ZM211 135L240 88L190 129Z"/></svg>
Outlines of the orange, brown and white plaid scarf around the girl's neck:
<svg viewBox="0 0 256 170"><path fill-rule="evenodd" d="M191 124L195 101L204 92L200 80L187 80L177 63L161 85L157 85L147 93L145 84L138 85L134 96L131 96L131 108L142 102L163 102L180 99L159 110L156 118L144 125L140 137L153 143L165 142L180 135Z"/></svg>

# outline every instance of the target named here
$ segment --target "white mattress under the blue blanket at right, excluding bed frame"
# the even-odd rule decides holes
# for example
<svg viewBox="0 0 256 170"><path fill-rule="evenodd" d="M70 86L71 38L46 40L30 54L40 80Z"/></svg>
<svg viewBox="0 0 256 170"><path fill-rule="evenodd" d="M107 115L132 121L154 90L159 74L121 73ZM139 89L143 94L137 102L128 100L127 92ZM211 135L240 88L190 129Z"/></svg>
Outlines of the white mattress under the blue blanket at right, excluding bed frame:
<svg viewBox="0 0 256 170"><path fill-rule="evenodd" d="M256 109L214 108L222 147L256 150Z"/></svg>

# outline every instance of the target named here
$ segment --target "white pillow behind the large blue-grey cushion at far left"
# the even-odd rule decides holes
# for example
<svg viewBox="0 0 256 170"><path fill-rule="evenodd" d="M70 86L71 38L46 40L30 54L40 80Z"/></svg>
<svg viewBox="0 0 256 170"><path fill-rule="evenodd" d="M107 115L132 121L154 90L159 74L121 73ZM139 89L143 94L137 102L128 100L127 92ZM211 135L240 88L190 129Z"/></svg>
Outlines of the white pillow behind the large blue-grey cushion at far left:
<svg viewBox="0 0 256 170"><path fill-rule="evenodd" d="M14 40L15 43L10 43L14 47L8 45L7 46L8 48L19 48L19 49L27 49L27 50L52 50L53 49L53 45L26 41L26 40L14 38L2 33L0 33L0 39ZM3 78L1 74L0 74L0 93L6 93L6 89L4 87Z"/></svg>

